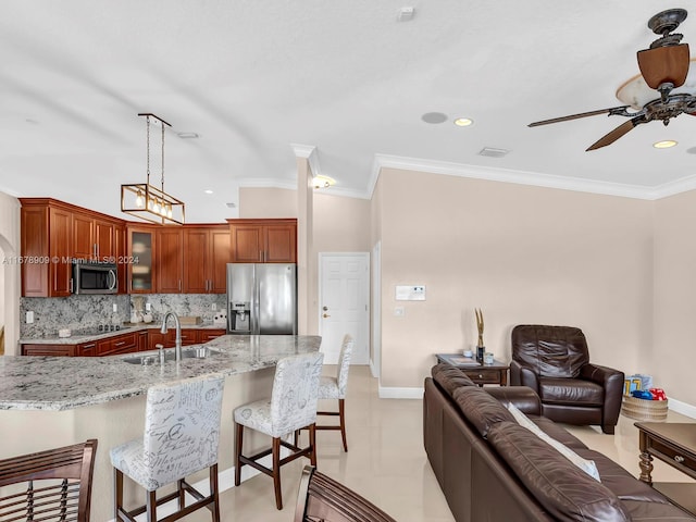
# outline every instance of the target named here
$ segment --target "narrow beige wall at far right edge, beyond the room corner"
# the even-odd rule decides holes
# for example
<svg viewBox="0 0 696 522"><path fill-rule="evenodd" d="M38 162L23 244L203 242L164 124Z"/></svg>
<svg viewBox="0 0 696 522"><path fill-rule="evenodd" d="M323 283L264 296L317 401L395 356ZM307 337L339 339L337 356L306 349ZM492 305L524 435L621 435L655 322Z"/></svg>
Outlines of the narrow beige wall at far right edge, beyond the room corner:
<svg viewBox="0 0 696 522"><path fill-rule="evenodd" d="M656 385L696 408L696 191L656 202L655 334L638 352Z"/></svg>

